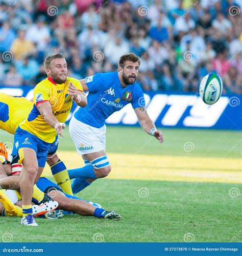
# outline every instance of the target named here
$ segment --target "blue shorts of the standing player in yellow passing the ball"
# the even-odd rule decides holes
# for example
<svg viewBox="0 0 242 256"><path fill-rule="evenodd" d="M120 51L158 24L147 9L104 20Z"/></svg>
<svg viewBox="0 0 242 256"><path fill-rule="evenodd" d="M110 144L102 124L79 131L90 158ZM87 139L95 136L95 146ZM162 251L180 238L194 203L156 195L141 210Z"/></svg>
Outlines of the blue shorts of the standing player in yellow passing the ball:
<svg viewBox="0 0 242 256"><path fill-rule="evenodd" d="M38 166L44 167L47 153L49 152L52 143L47 143L35 135L22 130L19 126L14 135L14 146L12 155L18 155L19 148L28 147L32 148L36 152Z"/></svg>

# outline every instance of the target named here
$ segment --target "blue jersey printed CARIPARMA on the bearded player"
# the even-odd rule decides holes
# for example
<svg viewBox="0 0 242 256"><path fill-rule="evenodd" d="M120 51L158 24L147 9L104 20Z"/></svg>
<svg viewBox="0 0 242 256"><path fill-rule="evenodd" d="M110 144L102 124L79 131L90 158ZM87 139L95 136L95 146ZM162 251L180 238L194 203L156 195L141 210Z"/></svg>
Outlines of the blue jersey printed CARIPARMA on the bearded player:
<svg viewBox="0 0 242 256"><path fill-rule="evenodd" d="M143 92L137 83L122 88L117 72L97 73L86 77L89 90L87 106L79 108L75 118L100 128L114 112L131 103L133 109L145 106Z"/></svg>

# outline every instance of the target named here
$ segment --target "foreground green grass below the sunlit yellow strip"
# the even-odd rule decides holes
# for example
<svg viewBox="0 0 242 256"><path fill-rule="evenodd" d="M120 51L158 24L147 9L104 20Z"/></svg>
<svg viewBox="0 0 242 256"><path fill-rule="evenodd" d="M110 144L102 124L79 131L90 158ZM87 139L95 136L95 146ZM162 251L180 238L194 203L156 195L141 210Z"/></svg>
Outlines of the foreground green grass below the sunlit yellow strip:
<svg viewBox="0 0 242 256"><path fill-rule="evenodd" d="M68 215L56 221L38 219L39 227L27 229L19 218L8 217L1 219L1 229L12 234L13 242L184 242L189 236L195 242L236 242L241 241L241 211L239 198L229 197L230 188L221 183L103 179L79 196L115 209L120 221Z"/></svg>

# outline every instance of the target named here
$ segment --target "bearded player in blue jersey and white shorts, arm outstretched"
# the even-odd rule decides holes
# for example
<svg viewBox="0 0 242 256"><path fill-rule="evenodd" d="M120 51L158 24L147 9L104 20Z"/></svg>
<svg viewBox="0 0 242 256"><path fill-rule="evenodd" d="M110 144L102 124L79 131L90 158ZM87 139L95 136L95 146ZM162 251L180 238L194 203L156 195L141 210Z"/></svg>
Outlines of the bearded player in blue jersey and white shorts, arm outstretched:
<svg viewBox="0 0 242 256"><path fill-rule="evenodd" d="M97 73L81 80L84 91L89 91L88 105L71 118L69 132L85 166L68 171L74 194L95 179L106 177L111 171L107 158L105 120L114 112L131 103L142 129L160 143L163 134L157 131L144 103L143 92L135 82L140 59L133 53L119 58L118 72Z"/></svg>

